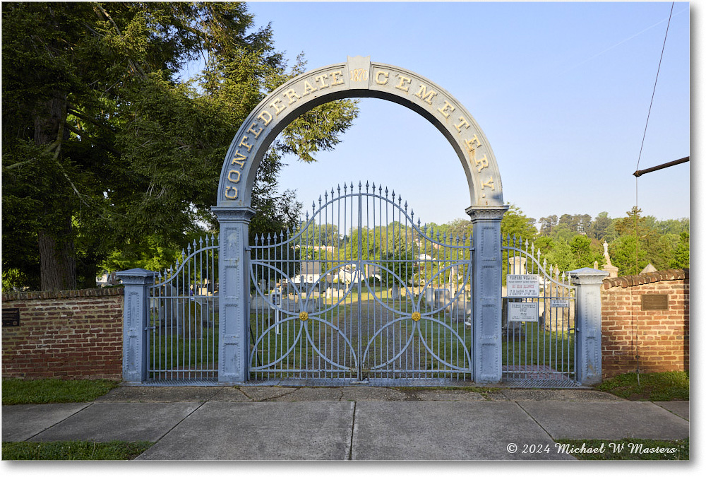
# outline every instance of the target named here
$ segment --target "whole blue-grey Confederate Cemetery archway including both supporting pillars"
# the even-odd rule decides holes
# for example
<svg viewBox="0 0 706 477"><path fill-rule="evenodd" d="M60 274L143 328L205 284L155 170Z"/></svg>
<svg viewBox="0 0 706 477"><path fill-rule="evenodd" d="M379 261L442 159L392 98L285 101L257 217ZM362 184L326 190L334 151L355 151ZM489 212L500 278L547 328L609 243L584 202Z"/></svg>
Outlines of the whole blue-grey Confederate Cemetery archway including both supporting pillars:
<svg viewBox="0 0 706 477"><path fill-rule="evenodd" d="M270 93L249 114L226 154L218 185L220 223L219 381L245 382L249 363L248 224L258 165L277 134L313 107L342 98L380 98L425 117L453 146L465 172L474 235L474 381L499 382L501 369L500 220L507 206L489 141L446 90L417 73L348 57L302 73Z"/></svg>

